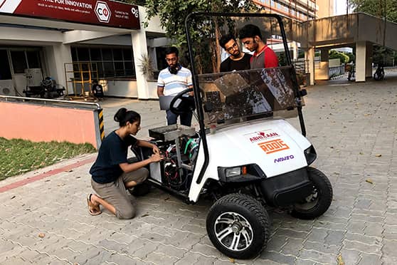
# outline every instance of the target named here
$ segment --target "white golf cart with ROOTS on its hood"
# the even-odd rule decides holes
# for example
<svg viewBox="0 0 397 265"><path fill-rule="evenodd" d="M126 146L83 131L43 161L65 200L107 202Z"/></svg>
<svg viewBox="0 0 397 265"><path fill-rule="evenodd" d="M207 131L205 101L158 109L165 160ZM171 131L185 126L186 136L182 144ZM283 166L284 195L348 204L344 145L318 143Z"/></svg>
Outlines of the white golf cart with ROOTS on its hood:
<svg viewBox="0 0 397 265"><path fill-rule="evenodd" d="M214 31L235 32L248 23L271 33L278 43L272 48L282 50L281 66L228 73L208 70L218 36ZM196 27L194 36L191 26ZM305 90L300 90L290 53L285 52L282 18L195 13L186 19L186 32L199 128L170 125L149 130L166 157L150 165L149 182L190 204L211 195L215 202L206 219L208 237L226 256L249 259L268 243L266 208L283 207L294 217L314 219L329 208L332 186L322 172L309 167L317 155L305 137ZM184 96L188 92L171 101L174 113L189 108ZM285 120L292 117L299 118L301 132ZM145 158L151 150L135 152Z"/></svg>

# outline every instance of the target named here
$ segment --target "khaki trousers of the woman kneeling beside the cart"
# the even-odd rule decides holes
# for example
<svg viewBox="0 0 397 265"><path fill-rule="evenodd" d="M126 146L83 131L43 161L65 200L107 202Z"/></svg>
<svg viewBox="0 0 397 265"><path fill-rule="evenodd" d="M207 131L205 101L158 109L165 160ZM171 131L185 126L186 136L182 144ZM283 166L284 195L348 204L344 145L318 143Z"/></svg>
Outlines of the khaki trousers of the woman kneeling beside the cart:
<svg viewBox="0 0 397 265"><path fill-rule="evenodd" d="M100 184L91 179L92 189L97 192L98 196L105 199L116 209L118 219L131 219L135 216L135 208L129 197L131 196L125 188L127 182L144 182L149 176L149 171L142 167L129 173L123 173L115 182Z"/></svg>

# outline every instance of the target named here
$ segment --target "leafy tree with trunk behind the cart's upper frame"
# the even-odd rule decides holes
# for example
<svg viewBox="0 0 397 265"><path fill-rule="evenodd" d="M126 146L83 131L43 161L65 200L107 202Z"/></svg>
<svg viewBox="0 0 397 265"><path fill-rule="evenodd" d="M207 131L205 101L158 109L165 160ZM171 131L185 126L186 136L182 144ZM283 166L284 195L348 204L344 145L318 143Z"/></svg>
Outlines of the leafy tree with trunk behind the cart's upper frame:
<svg viewBox="0 0 397 265"><path fill-rule="evenodd" d="M147 8L147 20L152 19L154 16L159 16L161 26L165 29L166 35L171 38L176 46L181 48L182 54L186 51L187 41L185 33L185 19L186 16L194 11L203 12L231 12L237 13L239 11L250 11L255 5L253 1L240 1L240 0L187 0L187 1L174 1L174 0L147 0L145 7ZM213 69L218 69L221 63L221 56L219 52L218 38L220 37L220 26L228 24L231 21L228 19L197 19L191 26L190 34L195 40L196 54L206 54L204 56L195 58L198 62L198 71L203 72L209 66ZM199 28L199 31L198 31ZM203 32L213 33L212 39L215 41L208 41L203 38ZM209 34L208 34L209 35ZM207 36L208 36L207 35ZM200 51L201 52L198 52Z"/></svg>

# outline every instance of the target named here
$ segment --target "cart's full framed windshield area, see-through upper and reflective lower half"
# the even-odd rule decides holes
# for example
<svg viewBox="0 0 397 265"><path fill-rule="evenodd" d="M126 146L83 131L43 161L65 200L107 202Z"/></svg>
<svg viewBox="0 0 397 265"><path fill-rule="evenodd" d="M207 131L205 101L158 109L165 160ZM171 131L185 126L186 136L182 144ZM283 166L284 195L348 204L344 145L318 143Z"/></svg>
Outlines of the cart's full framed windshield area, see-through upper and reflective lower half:
<svg viewBox="0 0 397 265"><path fill-rule="evenodd" d="M206 128L297 116L300 84L290 58L297 45L280 23L265 14L191 17L190 67Z"/></svg>

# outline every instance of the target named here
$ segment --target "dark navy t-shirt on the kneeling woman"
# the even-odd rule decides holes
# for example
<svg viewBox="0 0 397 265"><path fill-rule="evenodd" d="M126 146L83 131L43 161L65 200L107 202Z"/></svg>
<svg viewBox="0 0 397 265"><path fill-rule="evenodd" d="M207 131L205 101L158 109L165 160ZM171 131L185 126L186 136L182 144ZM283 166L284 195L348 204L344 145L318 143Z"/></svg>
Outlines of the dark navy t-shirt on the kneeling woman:
<svg viewBox="0 0 397 265"><path fill-rule="evenodd" d="M124 140L115 132L107 135L100 145L97 160L90 169L92 180L101 184L117 180L122 175L119 164L127 162L128 147L136 143L137 139L131 135Z"/></svg>

